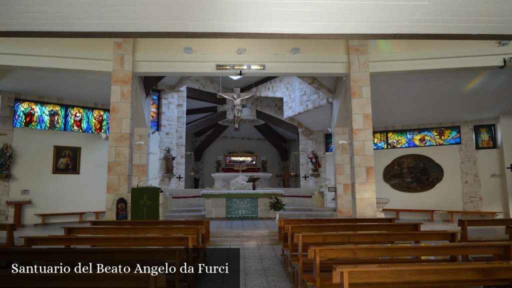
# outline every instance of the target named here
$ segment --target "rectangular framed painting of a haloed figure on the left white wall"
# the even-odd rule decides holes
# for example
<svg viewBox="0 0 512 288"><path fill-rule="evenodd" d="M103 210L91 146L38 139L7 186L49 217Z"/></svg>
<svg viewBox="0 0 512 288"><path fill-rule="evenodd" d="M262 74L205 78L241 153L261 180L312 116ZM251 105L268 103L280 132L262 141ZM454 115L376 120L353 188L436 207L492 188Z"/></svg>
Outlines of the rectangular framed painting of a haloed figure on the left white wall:
<svg viewBox="0 0 512 288"><path fill-rule="evenodd" d="M54 146L52 174L80 174L80 147Z"/></svg>

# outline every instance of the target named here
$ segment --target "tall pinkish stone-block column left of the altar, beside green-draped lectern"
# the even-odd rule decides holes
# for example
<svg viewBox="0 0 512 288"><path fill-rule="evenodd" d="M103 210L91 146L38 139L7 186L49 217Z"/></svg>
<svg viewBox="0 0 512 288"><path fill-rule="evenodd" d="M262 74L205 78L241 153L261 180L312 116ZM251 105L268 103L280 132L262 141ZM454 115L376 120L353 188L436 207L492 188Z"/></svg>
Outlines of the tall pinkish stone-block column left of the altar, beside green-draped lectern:
<svg viewBox="0 0 512 288"><path fill-rule="evenodd" d="M116 201L130 201L132 188L134 111L133 39L114 39L110 95L109 164L105 219L115 219Z"/></svg>

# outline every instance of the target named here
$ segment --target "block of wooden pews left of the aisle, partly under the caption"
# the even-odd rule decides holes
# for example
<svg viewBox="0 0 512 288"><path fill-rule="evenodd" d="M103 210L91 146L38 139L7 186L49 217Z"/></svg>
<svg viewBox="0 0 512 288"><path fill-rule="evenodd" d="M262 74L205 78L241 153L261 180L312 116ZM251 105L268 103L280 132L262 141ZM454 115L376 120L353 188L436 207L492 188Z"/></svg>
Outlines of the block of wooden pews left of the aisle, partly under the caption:
<svg viewBox="0 0 512 288"><path fill-rule="evenodd" d="M185 279L184 275L180 275L179 266L184 262L200 261L202 255L191 248L206 247L209 242L209 220L95 220L90 227L63 227L63 235L21 238L24 239L23 247L0 249L0 262L18 265L123 263L133 267L144 263L152 266L166 263L176 268L177 273L151 275L132 273L132 270L131 273L122 274L73 271L66 274L15 274L11 270L0 270L0 287L190 286L190 277ZM52 248L34 248L35 246ZM53 248L58 246L63 248ZM100 266L92 267L100 269Z"/></svg>

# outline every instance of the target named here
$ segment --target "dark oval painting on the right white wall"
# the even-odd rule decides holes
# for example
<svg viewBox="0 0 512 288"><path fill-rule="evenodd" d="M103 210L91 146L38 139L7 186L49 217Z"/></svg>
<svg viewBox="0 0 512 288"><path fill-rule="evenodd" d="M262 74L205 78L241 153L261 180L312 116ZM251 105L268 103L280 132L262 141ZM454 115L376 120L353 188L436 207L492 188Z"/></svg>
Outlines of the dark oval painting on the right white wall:
<svg viewBox="0 0 512 288"><path fill-rule="evenodd" d="M425 192L434 188L444 177L444 170L432 158L407 154L395 158L384 169L384 181L402 192Z"/></svg>

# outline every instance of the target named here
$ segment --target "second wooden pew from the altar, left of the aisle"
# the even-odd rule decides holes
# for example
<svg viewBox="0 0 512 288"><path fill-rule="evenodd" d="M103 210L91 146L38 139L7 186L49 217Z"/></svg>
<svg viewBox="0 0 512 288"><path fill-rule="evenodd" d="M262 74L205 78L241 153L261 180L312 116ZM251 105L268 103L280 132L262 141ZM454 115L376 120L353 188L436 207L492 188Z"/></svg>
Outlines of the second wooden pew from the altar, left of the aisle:
<svg viewBox="0 0 512 288"><path fill-rule="evenodd" d="M64 235L172 235L194 234L200 248L204 248L201 239L202 226L74 226L62 227Z"/></svg>

